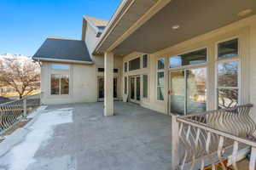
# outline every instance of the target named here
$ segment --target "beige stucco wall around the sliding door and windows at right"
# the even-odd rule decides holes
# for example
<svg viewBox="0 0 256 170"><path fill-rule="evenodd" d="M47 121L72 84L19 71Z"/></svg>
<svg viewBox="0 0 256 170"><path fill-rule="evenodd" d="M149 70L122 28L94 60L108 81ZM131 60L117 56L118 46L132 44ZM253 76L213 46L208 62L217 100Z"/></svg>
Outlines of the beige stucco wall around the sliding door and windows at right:
<svg viewBox="0 0 256 170"><path fill-rule="evenodd" d="M142 100L141 105L168 113L168 102L170 102L168 96L168 59L170 56L177 54L184 54L189 51L193 51L198 48L207 48L207 109L216 109L216 98L215 98L215 57L217 55L216 47L217 43L230 39L232 37L238 37L240 40L240 63L241 63L241 98L240 103L252 103L255 105L253 111L256 111L256 15L248 17L244 20L237 21L236 23L224 26L217 30L208 32L198 37L194 37L186 42L178 43L175 46L165 48L154 54L149 54L149 67L146 70L131 71L131 73L125 73L124 76L131 75L142 75L144 72L149 73L149 98ZM139 53L132 53L124 57L124 62L130 59L136 58ZM157 59L165 58L165 100L158 101L156 99L156 64ZM124 81L124 77L123 77ZM141 85L142 86L142 85ZM124 88L124 86L123 86ZM124 93L124 91L123 91ZM256 120L256 116L255 116Z"/></svg>

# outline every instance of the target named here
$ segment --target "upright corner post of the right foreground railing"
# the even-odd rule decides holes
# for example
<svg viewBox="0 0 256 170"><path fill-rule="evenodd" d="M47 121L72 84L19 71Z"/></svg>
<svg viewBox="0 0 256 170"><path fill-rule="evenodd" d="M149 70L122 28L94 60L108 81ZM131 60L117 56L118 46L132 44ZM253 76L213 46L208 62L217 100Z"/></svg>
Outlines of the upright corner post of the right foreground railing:
<svg viewBox="0 0 256 170"><path fill-rule="evenodd" d="M179 144L178 144L178 122L177 115L172 115L172 169L176 170L179 164Z"/></svg>

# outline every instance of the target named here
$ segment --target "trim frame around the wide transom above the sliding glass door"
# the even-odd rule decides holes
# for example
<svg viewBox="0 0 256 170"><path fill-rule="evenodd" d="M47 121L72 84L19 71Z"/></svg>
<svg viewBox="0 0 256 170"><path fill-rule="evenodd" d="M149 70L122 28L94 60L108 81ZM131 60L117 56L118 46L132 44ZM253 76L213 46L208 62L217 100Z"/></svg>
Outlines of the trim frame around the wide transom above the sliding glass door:
<svg viewBox="0 0 256 170"><path fill-rule="evenodd" d="M181 65L181 66L177 66L177 67L175 67L175 68L171 68L170 67L170 58L171 57L175 57L175 56L178 56L178 55L183 55L183 54L189 54L189 53L193 53L193 52L195 52L195 51L200 51L201 49L207 49L207 61L205 62L205 63L199 63L199 64L192 64L192 65ZM187 68L193 68L193 67L200 67L200 66L205 66L205 65L208 65L208 63L209 63L209 47L207 47L207 46L203 46L203 47L201 47L201 48L194 48L194 49L192 49L192 50L188 50L188 51L185 51L185 52L183 52L183 53L180 53L180 54L174 54L174 55L172 55L172 56L168 56L167 57L167 59L168 59L168 70L169 71L175 71L175 70L183 70L183 69L187 69Z"/></svg>

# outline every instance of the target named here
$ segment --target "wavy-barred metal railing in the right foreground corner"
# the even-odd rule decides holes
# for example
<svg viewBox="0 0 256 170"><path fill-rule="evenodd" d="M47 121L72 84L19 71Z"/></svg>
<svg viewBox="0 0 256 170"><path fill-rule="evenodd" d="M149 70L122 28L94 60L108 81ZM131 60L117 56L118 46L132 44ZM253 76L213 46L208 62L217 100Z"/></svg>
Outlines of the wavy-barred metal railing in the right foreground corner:
<svg viewBox="0 0 256 170"><path fill-rule="evenodd" d="M256 124L250 116L253 105L172 116L172 169L238 169L239 150L252 147L250 170L255 170ZM227 160L229 158L230 162Z"/></svg>

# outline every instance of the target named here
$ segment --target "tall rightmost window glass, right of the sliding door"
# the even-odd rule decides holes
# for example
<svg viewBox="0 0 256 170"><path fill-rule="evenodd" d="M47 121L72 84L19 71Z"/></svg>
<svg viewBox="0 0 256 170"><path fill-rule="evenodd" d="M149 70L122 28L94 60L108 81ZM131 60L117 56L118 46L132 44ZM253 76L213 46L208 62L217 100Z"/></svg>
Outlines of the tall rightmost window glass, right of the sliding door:
<svg viewBox="0 0 256 170"><path fill-rule="evenodd" d="M239 101L238 39L218 43L217 98L218 109L238 105Z"/></svg>

